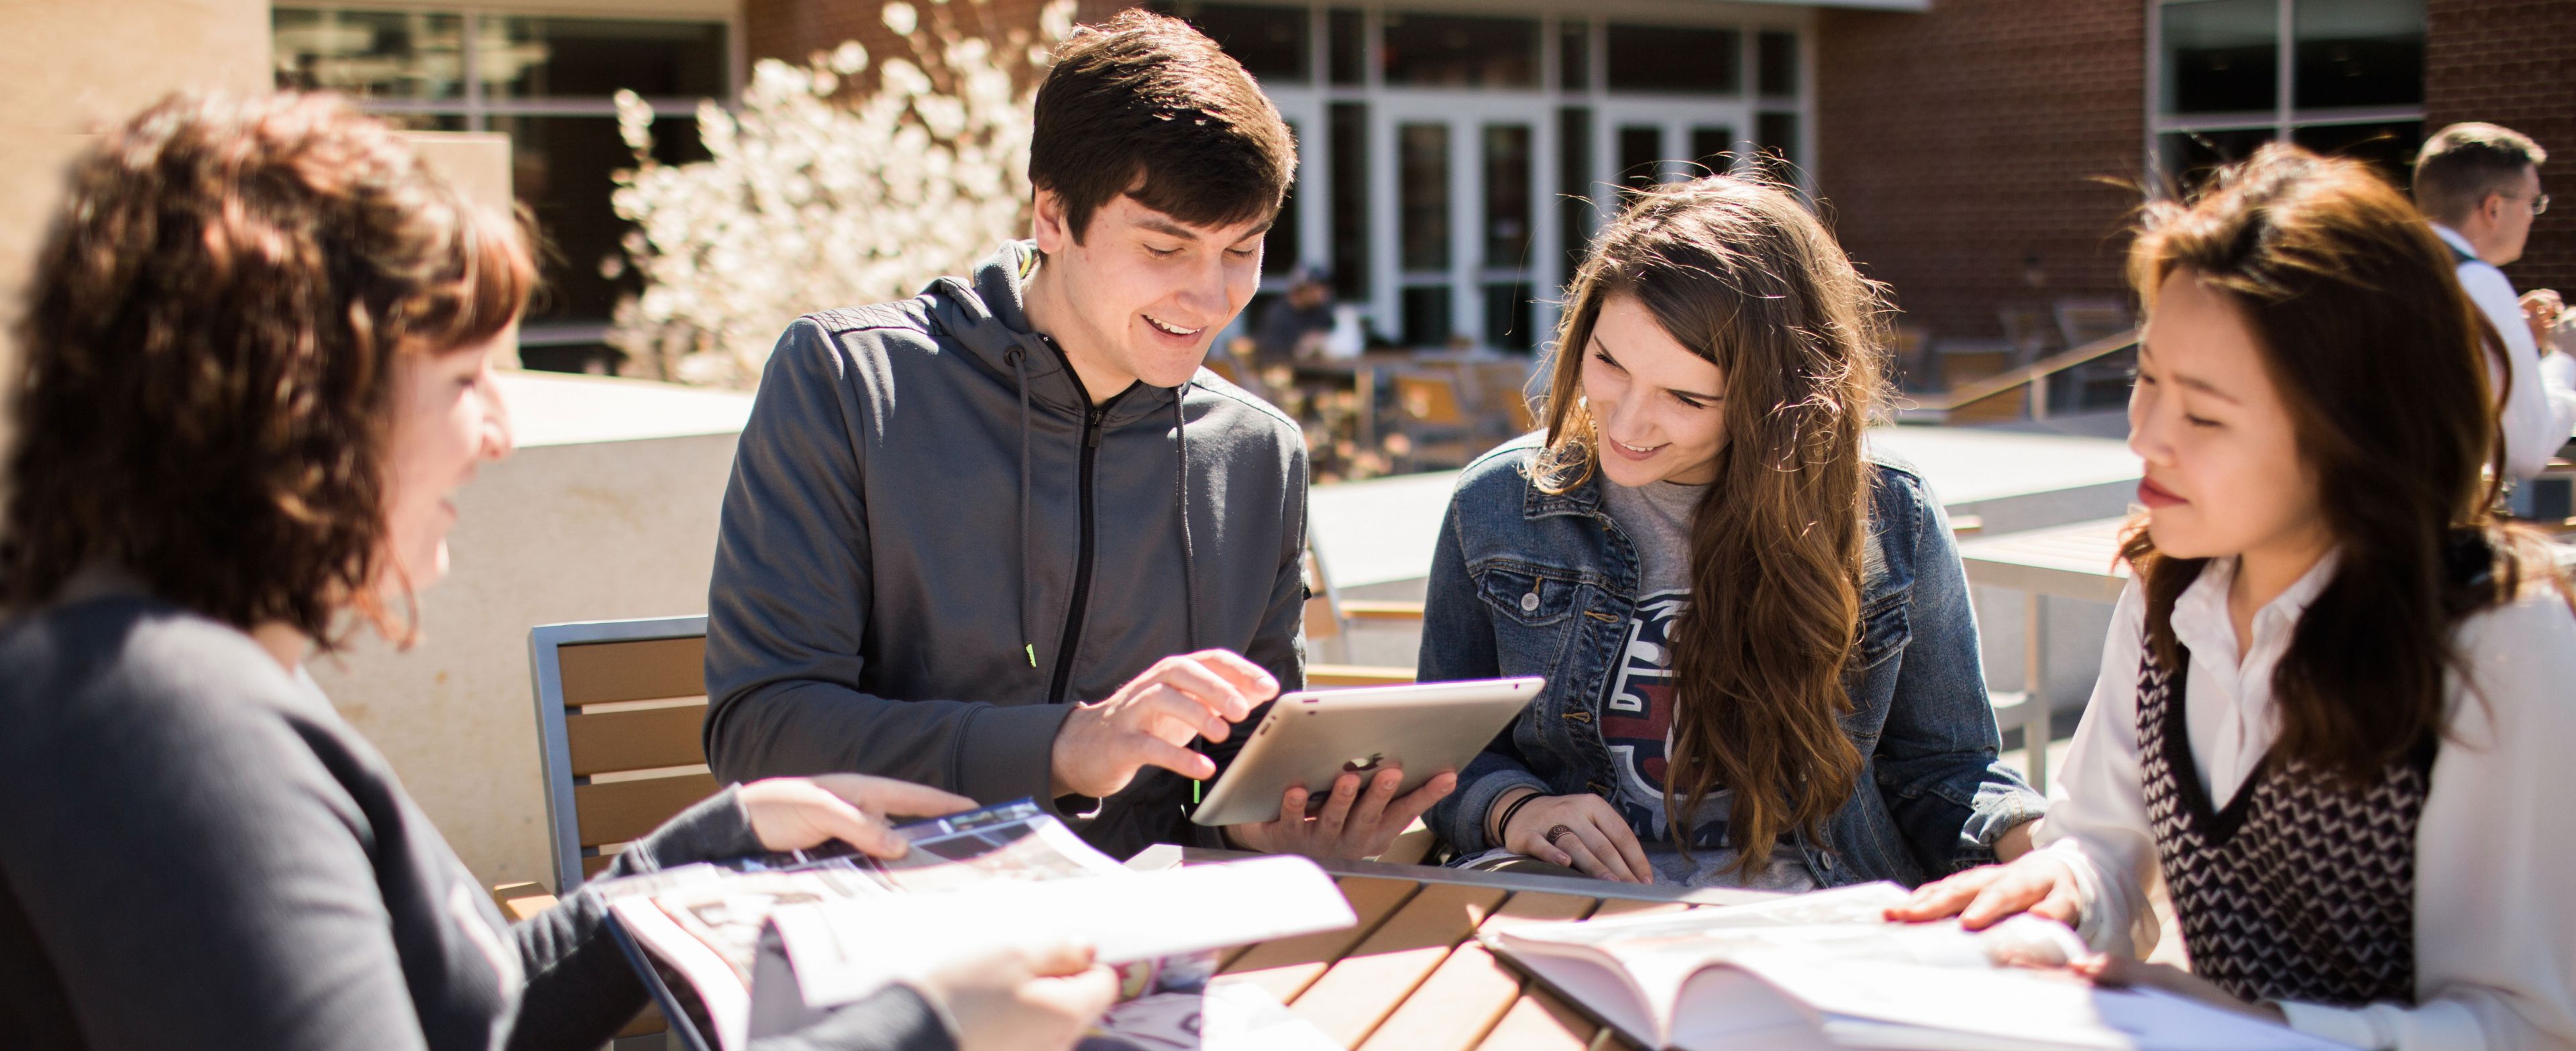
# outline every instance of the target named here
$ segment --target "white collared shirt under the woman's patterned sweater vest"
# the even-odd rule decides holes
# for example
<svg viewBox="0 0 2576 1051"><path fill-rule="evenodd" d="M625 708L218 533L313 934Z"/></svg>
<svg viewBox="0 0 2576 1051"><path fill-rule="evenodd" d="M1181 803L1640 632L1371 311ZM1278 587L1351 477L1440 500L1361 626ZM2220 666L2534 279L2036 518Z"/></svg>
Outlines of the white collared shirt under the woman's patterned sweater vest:
<svg viewBox="0 0 2576 1051"><path fill-rule="evenodd" d="M2233 559L2213 559L2174 600L2174 636L2192 652L2184 734L2213 806L2280 737L2272 670L2334 564L2257 611L2244 654L2226 598ZM2156 835L2138 775L2143 623L2146 598L2130 582L2038 832L2040 850L2076 873L2076 933L2130 956L2156 945L2146 904ZM2416 824L2416 1005L2282 1010L2306 1033L2362 1048L2576 1048L2576 613L2532 587L2463 621L2452 644L2473 693L2450 672L2452 726Z"/></svg>

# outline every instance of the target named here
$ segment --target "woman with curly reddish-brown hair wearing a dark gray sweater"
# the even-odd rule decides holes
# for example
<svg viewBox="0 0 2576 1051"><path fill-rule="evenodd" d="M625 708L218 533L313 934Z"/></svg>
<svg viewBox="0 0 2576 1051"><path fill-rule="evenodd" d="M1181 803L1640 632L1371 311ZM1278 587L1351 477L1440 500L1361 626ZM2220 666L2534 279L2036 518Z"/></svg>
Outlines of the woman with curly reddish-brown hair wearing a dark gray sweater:
<svg viewBox="0 0 2576 1051"><path fill-rule="evenodd" d="M507 456L489 348L531 283L379 121L170 98L72 167L10 384L0 544L0 1030L15 1048L598 1048L644 1005L582 891L510 927L304 675L415 636L448 497ZM757 781L608 876L971 801ZM1113 979L997 951L773 1048L1069 1046Z"/></svg>

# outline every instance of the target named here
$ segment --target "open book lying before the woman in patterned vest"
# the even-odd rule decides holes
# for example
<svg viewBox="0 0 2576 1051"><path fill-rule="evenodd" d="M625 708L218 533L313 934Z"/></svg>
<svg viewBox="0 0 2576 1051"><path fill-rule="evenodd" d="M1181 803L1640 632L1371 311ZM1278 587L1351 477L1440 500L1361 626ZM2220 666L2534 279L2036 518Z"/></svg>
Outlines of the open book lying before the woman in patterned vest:
<svg viewBox="0 0 2576 1051"><path fill-rule="evenodd" d="M2339 1048L2159 992L2099 989L2063 971L2084 945L2050 920L1978 933L1886 922L1904 896L1865 884L1479 938L1646 1048Z"/></svg>

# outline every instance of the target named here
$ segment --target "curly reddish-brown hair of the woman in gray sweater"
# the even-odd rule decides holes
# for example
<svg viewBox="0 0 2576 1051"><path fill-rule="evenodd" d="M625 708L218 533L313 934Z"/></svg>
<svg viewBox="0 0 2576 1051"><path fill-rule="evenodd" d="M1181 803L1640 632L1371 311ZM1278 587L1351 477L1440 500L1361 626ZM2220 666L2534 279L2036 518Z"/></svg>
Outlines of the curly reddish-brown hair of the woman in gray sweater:
<svg viewBox="0 0 2576 1051"><path fill-rule="evenodd" d="M242 629L330 647L353 608L410 641L379 577L394 355L489 343L531 281L507 216L337 98L162 98L72 162L36 258L0 603L116 567Z"/></svg>

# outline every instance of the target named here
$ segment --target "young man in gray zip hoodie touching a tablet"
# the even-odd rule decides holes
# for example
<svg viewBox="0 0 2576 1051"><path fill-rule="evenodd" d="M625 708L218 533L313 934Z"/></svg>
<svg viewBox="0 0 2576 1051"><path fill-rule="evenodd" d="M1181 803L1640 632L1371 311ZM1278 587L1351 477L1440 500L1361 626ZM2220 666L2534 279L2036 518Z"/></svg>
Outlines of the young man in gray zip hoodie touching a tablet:
<svg viewBox="0 0 2576 1051"><path fill-rule="evenodd" d="M1059 52L1028 175L1033 242L778 340L708 587L708 762L1030 796L1113 855L1383 850L1453 778L1188 819L1234 724L1303 685L1303 433L1200 368L1260 283L1288 126L1128 10Z"/></svg>

